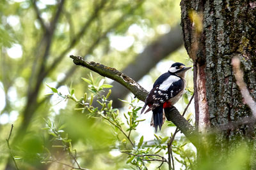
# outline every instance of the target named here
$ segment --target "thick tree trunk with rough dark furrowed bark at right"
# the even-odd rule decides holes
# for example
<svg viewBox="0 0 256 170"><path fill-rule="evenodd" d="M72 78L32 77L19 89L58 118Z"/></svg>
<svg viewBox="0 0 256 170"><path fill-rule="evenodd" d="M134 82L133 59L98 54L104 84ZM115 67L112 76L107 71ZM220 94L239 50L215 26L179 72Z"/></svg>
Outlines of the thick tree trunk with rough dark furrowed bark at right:
<svg viewBox="0 0 256 170"><path fill-rule="evenodd" d="M202 145L204 149L198 149L198 158L205 156L207 147L212 151L207 151L209 157L215 155L218 160L223 160L243 142L250 149L251 160L244 162L244 168L256 169L255 124L225 130L219 128L252 114L237 87L231 60L235 56L240 58L244 81L255 101L256 3L182 0L180 6L184 45L194 62L196 129L211 134L212 129L220 130L214 131L207 146Z"/></svg>

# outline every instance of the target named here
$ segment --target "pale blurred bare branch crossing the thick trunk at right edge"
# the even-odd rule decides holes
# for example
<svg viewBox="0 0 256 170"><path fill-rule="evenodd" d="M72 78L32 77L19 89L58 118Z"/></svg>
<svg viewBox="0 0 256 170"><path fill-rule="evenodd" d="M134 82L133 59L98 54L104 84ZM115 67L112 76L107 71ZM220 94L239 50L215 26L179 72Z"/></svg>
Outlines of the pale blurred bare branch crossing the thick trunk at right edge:
<svg viewBox="0 0 256 170"><path fill-rule="evenodd" d="M243 71L240 69L240 59L239 57L234 57L232 59L233 71L236 77L236 83L241 91L244 102L250 107L252 110L253 117L256 118L256 102L253 101L252 96L250 95L249 90L246 87L246 83L243 80Z"/></svg>

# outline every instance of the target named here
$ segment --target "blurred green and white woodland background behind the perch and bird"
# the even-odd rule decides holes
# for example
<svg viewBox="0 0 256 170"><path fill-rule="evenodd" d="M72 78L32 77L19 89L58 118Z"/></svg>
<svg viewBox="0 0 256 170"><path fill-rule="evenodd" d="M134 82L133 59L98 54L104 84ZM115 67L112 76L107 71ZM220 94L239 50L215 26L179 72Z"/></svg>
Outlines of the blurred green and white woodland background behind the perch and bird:
<svg viewBox="0 0 256 170"><path fill-rule="evenodd" d="M74 110L74 101L65 100L56 94L47 96L52 92L47 85L55 87L61 94L68 94L70 89L75 89L77 98L88 92L88 84L81 77L89 78L90 71L75 66L68 57L70 54L122 71L129 69L129 64L137 63L138 67L143 67L153 60L148 58L138 62L144 49L152 48L153 57L156 53L161 58L149 65L152 69L145 71L145 76L139 78L140 84L147 90L150 90L154 80L166 72L173 62L191 65L180 40L181 34L177 40L180 45L172 52L157 54L159 49L161 52L161 48L170 48L175 39L154 48L154 42L161 41L163 37L168 38L167 34L173 28L181 29L179 3L176 0L1 0L0 169L9 166L14 168L6 143L11 124L14 127L10 147L20 169L70 169L56 162L44 162L50 157L76 167L74 159L64 156L63 148L52 147L63 143L60 144L54 135L49 134L49 128L45 129L47 123L56 129L62 126L59 130L68 134L68 139L72 140L72 148L76 148L77 161L81 167L136 169L136 166L127 164L127 155L118 152L124 149L120 148L122 141L124 144L124 136L116 138L113 127L103 120ZM133 78L136 74L138 72L131 72L129 76ZM92 73L92 76L99 81L102 78L96 73ZM188 88L193 91L193 71L188 72L186 79ZM106 83L111 82L106 80ZM115 87L112 91L115 91ZM132 94L125 96L112 97L131 102ZM177 104L180 111L184 110L190 96L188 93ZM122 104L119 117L124 121L122 126L127 128L123 113L127 113L129 104ZM140 107L143 103L137 105ZM191 112L193 104L188 113ZM156 139L154 129L150 127L150 117L150 114L138 114L139 119L146 120L132 133L134 141L138 142L142 135L148 143ZM193 115L191 117L193 120ZM175 127L164 125L157 135L163 138L170 136L174 129ZM179 134L179 140L184 141L183 138ZM195 149L192 146L187 148L189 152L193 152L188 154L195 157ZM166 150L161 151L161 155L166 157ZM177 159L180 159L178 155L179 153ZM144 166L154 169L159 166L159 162L145 161ZM175 166L189 169L178 161ZM163 168L167 168L167 164Z"/></svg>

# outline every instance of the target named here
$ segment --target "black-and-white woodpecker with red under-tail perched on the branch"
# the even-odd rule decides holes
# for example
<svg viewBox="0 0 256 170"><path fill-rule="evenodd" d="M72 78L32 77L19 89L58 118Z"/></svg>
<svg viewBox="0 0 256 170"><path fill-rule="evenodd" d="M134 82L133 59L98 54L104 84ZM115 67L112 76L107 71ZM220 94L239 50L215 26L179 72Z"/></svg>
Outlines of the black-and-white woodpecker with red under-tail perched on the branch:
<svg viewBox="0 0 256 170"><path fill-rule="evenodd" d="M185 67L180 62L172 64L167 73L162 74L157 78L153 85L153 89L150 90L147 98L145 99L145 105L143 106L141 113L148 106L148 111L152 110L153 115L151 124L161 130L163 122L165 120L164 108L169 108L173 104L179 101L185 89L185 73L191 67Z"/></svg>

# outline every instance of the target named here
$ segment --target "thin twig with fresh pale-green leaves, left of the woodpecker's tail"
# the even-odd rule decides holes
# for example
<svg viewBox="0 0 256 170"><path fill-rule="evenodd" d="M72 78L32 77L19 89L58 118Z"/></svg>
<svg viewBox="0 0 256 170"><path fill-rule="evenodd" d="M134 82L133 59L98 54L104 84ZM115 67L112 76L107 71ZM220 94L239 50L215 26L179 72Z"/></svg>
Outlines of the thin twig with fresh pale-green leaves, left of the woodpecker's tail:
<svg viewBox="0 0 256 170"><path fill-rule="evenodd" d="M101 117L102 119L106 120L109 125L112 127L117 128L122 134L125 136L125 138L128 139L129 143L131 143L132 147L134 147L134 142L131 139L131 131L135 130L138 126L138 123L143 120L136 120L138 116L137 111L140 110L140 107L138 108L134 104L131 104L132 111L129 112L129 117L125 116L127 119L131 120L130 122L127 122L129 125L129 129L127 129L127 132L122 127L122 121L119 120L119 110L112 107L112 101L108 100L108 97L111 94L111 89L109 89L109 92L106 96L100 96L100 92L102 92L104 89L111 88L111 85L104 84L104 80L99 81L99 83L95 80L93 80L92 74L90 74L90 80L87 78L82 78L82 80L86 81L88 83L88 90L92 92L92 95L88 99L88 94L84 93L84 96L81 99L77 99L74 95L74 89L70 91L70 94L63 95L61 92L58 92L57 89L54 87L50 87L52 92L58 94L63 99L72 99L72 101L76 102L79 108L76 108L76 110L81 110L82 113L84 113L85 110L89 111L90 114L89 117ZM94 98L97 97L97 102L100 104L101 108L95 108L92 106ZM132 101L134 103L135 100ZM133 118L132 118L133 117Z"/></svg>

